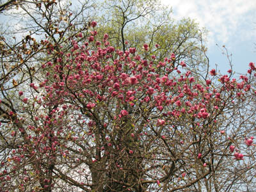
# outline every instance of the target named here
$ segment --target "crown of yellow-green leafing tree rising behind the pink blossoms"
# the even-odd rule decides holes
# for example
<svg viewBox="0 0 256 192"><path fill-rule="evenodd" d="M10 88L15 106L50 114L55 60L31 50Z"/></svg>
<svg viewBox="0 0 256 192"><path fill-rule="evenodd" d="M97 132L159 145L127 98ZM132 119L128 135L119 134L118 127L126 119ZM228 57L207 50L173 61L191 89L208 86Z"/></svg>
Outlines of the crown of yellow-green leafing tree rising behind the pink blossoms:
<svg viewBox="0 0 256 192"><path fill-rule="evenodd" d="M173 20L172 10L159 1L104 1L100 8L102 15L98 20L103 22L99 34L108 33L110 44L116 48L124 51L137 47L140 51L143 44L148 44L148 54L154 54L159 60L168 57L172 50L177 63L183 60L198 74L207 70L206 31L194 20Z"/></svg>

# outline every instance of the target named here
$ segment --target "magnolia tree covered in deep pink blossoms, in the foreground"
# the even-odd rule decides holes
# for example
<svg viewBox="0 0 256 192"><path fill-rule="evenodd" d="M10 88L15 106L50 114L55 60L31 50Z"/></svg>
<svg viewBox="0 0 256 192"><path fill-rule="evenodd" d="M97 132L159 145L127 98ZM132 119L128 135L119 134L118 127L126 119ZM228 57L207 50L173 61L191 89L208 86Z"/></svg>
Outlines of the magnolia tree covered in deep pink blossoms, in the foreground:
<svg viewBox="0 0 256 192"><path fill-rule="evenodd" d="M40 78L2 91L1 191L253 191L254 63L199 77L108 38L44 40Z"/></svg>

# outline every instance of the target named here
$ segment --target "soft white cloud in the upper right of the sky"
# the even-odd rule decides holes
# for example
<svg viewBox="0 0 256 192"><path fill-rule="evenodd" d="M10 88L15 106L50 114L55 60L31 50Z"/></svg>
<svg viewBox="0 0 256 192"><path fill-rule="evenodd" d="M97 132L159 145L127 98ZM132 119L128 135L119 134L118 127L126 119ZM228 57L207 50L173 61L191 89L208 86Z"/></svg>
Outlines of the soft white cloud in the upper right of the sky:
<svg viewBox="0 0 256 192"><path fill-rule="evenodd" d="M255 0L162 0L176 19L191 17L210 31L209 46L243 40L256 42ZM236 42L237 41L237 42Z"/></svg>

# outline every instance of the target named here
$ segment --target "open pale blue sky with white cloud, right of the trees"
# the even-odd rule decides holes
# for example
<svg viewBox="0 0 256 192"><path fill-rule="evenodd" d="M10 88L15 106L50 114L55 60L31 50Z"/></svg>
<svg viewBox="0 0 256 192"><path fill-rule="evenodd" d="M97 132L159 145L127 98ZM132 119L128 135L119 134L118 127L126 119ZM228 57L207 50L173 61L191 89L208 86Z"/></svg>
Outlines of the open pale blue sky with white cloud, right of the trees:
<svg viewBox="0 0 256 192"><path fill-rule="evenodd" d="M172 7L174 19L190 17L209 31L207 55L211 67L230 68L223 45L232 54L233 70L246 73L256 62L256 0L161 0ZM216 45L218 44L218 46Z"/></svg>

